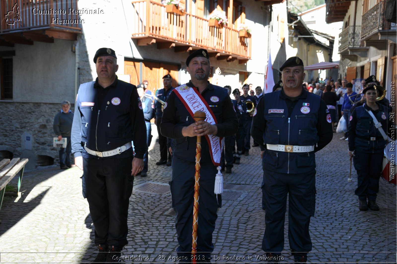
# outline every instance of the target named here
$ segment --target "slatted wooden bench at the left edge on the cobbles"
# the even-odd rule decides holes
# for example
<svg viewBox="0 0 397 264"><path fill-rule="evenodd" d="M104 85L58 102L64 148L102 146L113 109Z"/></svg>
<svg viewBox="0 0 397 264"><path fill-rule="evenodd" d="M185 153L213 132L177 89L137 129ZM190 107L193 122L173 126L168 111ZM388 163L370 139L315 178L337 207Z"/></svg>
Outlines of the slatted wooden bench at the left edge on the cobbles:
<svg viewBox="0 0 397 264"><path fill-rule="evenodd" d="M29 161L29 159L19 159L15 158L10 161L10 159L3 159L0 161L0 210L3 204L4 193L6 192L6 186L8 182L10 182L17 173L19 173L18 179L18 187L17 192L20 196L19 192L22 183L23 170L25 169L25 164Z"/></svg>

